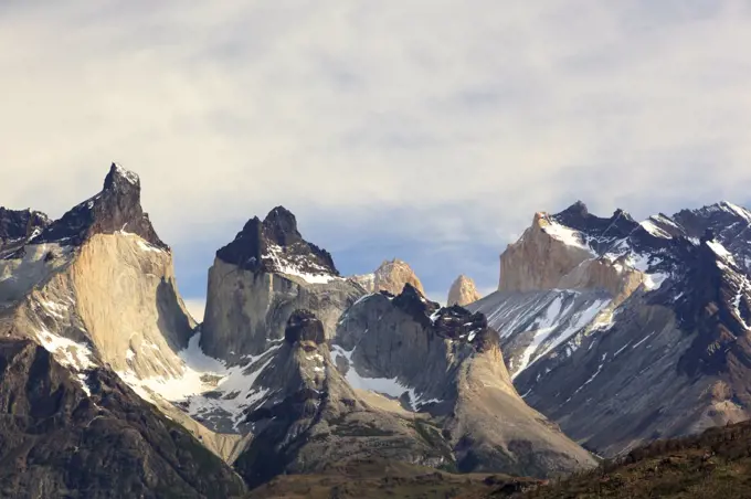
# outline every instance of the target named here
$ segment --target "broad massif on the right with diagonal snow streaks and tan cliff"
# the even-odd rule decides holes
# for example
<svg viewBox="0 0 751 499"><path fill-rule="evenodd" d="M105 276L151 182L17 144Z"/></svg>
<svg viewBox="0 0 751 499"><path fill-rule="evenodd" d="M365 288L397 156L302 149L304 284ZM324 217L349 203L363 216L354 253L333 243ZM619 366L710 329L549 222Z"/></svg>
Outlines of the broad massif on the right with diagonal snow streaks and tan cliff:
<svg viewBox="0 0 751 499"><path fill-rule="evenodd" d="M501 256L514 290L469 306L499 330L526 402L605 456L751 416L748 211L719 203L639 223L578 203L539 219ZM580 263L560 256L580 250Z"/></svg>

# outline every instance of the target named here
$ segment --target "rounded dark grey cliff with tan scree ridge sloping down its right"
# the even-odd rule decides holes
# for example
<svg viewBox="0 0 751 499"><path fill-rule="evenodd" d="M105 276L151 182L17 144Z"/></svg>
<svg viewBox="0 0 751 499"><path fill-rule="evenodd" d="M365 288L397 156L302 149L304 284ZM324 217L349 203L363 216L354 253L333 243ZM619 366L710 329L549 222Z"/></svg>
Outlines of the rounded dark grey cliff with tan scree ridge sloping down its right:
<svg viewBox="0 0 751 499"><path fill-rule="evenodd" d="M350 308L332 349L353 387L430 414L463 471L544 477L594 464L519 397L482 314L441 308L408 284Z"/></svg>

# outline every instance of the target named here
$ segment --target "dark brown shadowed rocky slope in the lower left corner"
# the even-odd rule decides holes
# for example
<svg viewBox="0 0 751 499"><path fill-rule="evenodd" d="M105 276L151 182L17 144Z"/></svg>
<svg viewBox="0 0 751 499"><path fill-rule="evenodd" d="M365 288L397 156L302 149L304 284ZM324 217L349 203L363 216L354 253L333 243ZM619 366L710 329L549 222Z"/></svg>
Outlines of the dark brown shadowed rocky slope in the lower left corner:
<svg viewBox="0 0 751 499"><path fill-rule="evenodd" d="M0 339L0 496L226 498L245 486L108 368L81 380L44 348Z"/></svg>

